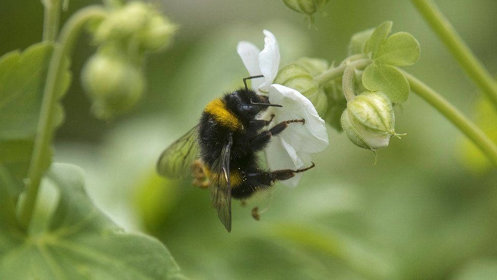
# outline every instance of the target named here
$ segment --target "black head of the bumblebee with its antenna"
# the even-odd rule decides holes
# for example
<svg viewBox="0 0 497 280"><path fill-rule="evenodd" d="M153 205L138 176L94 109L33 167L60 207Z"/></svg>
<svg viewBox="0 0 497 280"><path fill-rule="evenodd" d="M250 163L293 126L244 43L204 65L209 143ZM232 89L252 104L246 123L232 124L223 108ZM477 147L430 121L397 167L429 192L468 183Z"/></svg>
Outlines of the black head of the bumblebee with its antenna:
<svg viewBox="0 0 497 280"><path fill-rule="evenodd" d="M245 120L254 119L267 107L282 107L277 104L270 104L267 97L258 95L253 90L238 89L225 96L225 101L229 109Z"/></svg>

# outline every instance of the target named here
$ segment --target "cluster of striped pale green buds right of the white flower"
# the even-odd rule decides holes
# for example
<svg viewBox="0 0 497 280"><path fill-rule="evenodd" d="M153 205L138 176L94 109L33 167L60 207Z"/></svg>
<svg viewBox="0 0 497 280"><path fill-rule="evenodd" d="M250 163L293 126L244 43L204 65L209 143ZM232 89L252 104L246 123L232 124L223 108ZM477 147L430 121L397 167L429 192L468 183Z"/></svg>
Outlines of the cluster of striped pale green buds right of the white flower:
<svg viewBox="0 0 497 280"><path fill-rule="evenodd" d="M354 71L353 91L364 92L358 95L352 93L353 97L347 101L342 81L334 80L322 85L316 81L315 77L328 69L325 60L300 58L282 67L274 83L293 88L309 98L321 117L327 121L332 119L329 124L343 129L359 147L375 150L388 146L392 136L400 136L394 129L392 101L380 91L365 91L361 81L362 70Z"/></svg>

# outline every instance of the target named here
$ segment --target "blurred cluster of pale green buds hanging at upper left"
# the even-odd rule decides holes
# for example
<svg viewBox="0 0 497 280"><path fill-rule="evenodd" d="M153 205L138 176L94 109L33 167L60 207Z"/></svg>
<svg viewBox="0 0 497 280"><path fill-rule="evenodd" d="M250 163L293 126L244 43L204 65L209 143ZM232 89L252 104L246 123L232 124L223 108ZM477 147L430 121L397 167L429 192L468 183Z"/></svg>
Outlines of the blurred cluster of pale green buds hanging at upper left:
<svg viewBox="0 0 497 280"><path fill-rule="evenodd" d="M128 2L98 24L94 41L99 48L81 73L97 117L124 113L140 100L146 86L144 56L168 46L175 30L154 6L143 2Z"/></svg>

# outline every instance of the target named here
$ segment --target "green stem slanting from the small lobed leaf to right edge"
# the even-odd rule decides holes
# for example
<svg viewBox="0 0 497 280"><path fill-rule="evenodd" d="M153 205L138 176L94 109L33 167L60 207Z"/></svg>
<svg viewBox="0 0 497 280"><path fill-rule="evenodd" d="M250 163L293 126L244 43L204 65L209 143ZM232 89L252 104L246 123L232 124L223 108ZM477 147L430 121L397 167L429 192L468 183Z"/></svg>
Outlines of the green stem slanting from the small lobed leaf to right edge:
<svg viewBox="0 0 497 280"><path fill-rule="evenodd" d="M402 71L402 70L401 70ZM459 110L449 103L444 97L440 96L432 88L418 80L413 75L402 71L409 81L411 90L416 92L421 98L425 99L431 106L438 112L443 114L450 120L457 128L470 138L483 153L497 166L497 145L490 140L478 126L471 120L466 118Z"/></svg>

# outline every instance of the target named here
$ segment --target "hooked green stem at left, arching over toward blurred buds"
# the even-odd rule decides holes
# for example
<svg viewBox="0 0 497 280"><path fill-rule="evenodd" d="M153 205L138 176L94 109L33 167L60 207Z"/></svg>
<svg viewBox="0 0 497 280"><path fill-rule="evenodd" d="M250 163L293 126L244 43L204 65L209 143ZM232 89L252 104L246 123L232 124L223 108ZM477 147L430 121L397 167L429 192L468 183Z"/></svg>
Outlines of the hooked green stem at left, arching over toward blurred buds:
<svg viewBox="0 0 497 280"><path fill-rule="evenodd" d="M46 157L49 155L49 147L53 138L54 107L59 98L54 89L64 72L64 60L71 54L74 42L85 24L104 16L105 10L101 6L89 6L79 10L67 21L61 31L59 42L54 46L43 91L40 120L28 173L29 181L26 184L26 196L19 213L20 222L25 228L29 227L33 216L41 177L45 171L43 163L47 161Z"/></svg>

